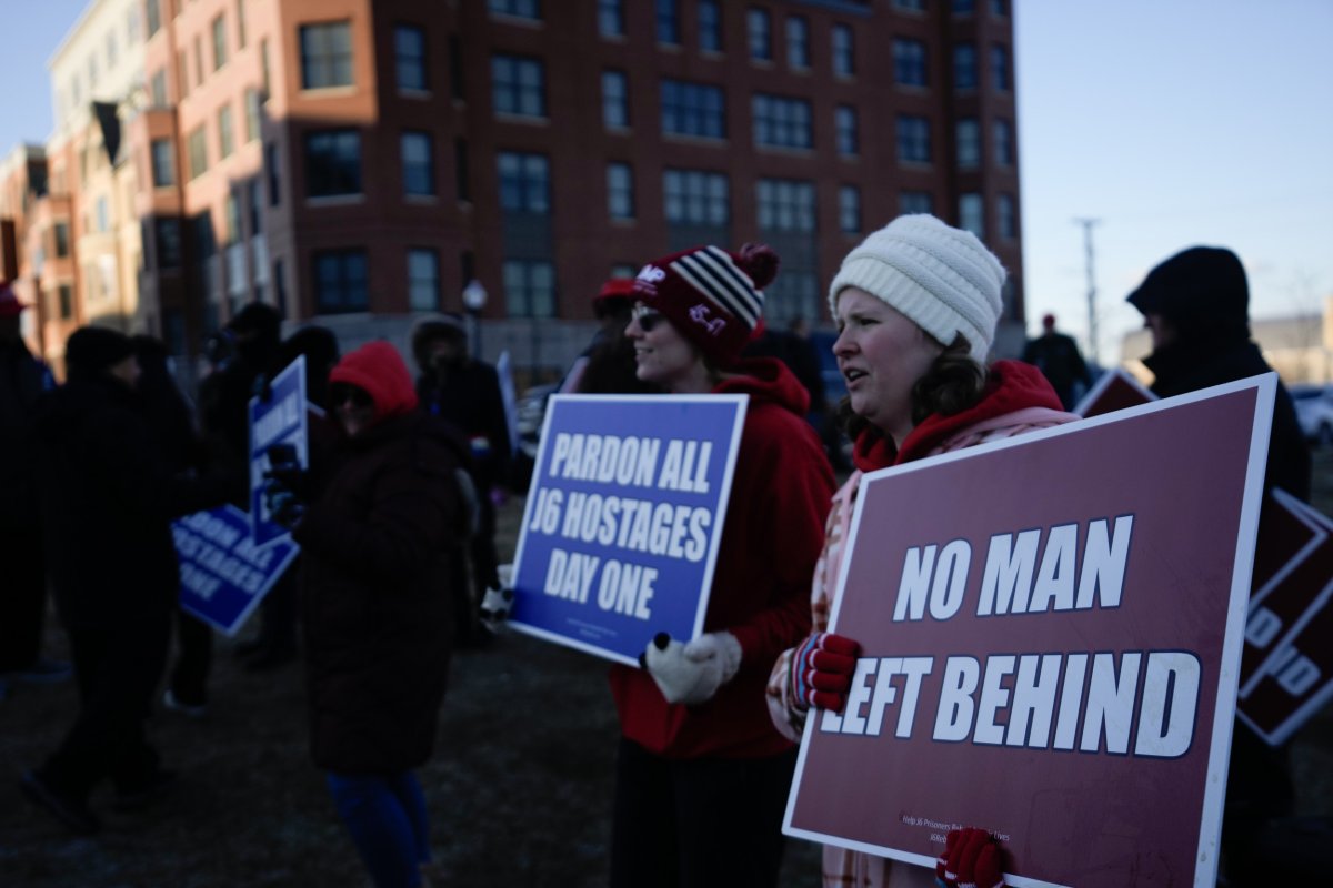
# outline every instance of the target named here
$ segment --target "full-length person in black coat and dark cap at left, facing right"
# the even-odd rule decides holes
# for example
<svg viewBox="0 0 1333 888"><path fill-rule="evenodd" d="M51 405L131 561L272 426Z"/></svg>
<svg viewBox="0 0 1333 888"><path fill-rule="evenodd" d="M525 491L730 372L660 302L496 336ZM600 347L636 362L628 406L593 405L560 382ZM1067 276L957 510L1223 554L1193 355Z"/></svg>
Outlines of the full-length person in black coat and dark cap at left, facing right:
<svg viewBox="0 0 1333 888"><path fill-rule="evenodd" d="M169 772L144 738L171 636L180 572L171 519L220 505L224 483L172 477L135 393L139 362L120 333L83 328L65 346L67 385L39 406L37 498L47 574L69 635L79 715L23 791L75 832L99 827L88 795L149 801Z"/></svg>

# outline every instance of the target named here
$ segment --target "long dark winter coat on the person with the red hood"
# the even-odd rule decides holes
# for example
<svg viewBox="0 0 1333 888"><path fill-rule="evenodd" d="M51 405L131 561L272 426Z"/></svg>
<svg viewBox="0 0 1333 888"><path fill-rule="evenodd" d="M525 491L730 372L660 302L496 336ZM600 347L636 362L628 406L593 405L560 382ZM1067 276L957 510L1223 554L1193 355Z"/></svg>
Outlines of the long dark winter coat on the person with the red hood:
<svg viewBox="0 0 1333 888"><path fill-rule="evenodd" d="M339 379L336 369L331 381ZM447 558L463 533L455 479L463 454L444 423L412 409L405 367L391 386L399 411L340 442L327 489L293 531L303 547L311 754L339 774L423 764L449 663ZM384 397L371 393L379 413Z"/></svg>

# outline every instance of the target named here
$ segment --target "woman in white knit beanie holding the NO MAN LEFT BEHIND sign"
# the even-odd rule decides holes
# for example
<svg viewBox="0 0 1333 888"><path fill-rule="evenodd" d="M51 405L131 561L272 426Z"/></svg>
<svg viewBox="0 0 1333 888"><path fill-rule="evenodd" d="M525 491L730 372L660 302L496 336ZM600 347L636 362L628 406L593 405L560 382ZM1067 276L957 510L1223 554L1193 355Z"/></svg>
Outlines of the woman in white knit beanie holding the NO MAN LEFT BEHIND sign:
<svg viewBox="0 0 1333 888"><path fill-rule="evenodd" d="M846 704L860 646L830 634L828 622L861 475L1078 418L1064 411L1036 367L986 365L1004 281L1004 266L981 241L932 216L893 220L848 253L833 276L829 308L840 332L833 354L848 387L840 414L856 471L828 514L813 571L813 631L777 658L768 678L772 724L793 742L806 719L817 718L812 710ZM996 873L984 884L997 881ZM824 884L936 881L925 868L826 845Z"/></svg>

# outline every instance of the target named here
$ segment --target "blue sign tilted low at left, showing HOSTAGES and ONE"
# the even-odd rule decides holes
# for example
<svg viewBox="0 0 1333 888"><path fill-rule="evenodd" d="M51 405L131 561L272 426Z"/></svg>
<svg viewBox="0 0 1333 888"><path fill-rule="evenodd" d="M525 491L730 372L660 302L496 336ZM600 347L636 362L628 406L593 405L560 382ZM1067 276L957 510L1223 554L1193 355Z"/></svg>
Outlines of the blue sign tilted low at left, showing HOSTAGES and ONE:
<svg viewBox="0 0 1333 888"><path fill-rule="evenodd" d="M231 505L172 522L172 535L180 606L228 635L240 630L300 551L291 537L257 547L249 515Z"/></svg>

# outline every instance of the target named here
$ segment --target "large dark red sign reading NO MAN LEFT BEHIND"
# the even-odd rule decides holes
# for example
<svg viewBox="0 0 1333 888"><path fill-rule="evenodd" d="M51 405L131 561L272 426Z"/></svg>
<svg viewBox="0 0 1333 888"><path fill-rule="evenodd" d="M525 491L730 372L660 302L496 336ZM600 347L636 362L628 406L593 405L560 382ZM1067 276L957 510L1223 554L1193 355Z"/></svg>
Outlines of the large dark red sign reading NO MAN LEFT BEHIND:
<svg viewBox="0 0 1333 888"><path fill-rule="evenodd" d="M862 482L789 835L1012 885L1212 885L1274 377Z"/></svg>

